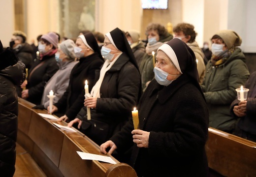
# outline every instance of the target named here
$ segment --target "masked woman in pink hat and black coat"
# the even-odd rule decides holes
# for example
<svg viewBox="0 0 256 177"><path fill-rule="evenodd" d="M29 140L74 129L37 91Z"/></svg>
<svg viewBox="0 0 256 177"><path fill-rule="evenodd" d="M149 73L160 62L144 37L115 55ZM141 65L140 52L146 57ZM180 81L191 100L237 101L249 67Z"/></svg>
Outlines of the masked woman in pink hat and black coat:
<svg viewBox="0 0 256 177"><path fill-rule="evenodd" d="M49 32L42 35L38 44L40 59L36 60L29 70L28 78L23 83L22 98L39 105L41 103L45 84L58 71L59 67L55 60L55 53L58 51L58 35Z"/></svg>

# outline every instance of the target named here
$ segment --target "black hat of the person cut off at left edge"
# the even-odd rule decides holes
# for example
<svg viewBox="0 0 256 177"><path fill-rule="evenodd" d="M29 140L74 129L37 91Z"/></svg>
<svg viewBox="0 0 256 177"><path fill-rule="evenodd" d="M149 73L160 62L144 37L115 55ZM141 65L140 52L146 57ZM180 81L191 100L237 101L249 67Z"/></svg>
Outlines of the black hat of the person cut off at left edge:
<svg viewBox="0 0 256 177"><path fill-rule="evenodd" d="M0 40L0 70L8 66L13 66L18 62L18 60L18 57L10 47L7 47L5 50L3 50L3 46Z"/></svg>

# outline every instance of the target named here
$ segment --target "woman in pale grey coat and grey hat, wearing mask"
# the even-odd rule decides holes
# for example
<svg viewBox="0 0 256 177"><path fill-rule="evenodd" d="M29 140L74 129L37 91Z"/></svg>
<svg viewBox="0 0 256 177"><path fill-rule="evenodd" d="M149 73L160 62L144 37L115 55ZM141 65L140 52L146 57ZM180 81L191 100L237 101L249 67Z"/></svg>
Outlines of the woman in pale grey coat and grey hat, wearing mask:
<svg viewBox="0 0 256 177"><path fill-rule="evenodd" d="M47 109L49 106L49 98L47 95L49 95L51 90L53 90L55 95L53 103L58 102L62 97L68 87L71 70L75 64L77 64L77 61L74 61L76 58L74 47L75 43L71 39L66 39L60 44L58 52L55 54L55 59L60 69L45 85L41 105L33 108Z"/></svg>

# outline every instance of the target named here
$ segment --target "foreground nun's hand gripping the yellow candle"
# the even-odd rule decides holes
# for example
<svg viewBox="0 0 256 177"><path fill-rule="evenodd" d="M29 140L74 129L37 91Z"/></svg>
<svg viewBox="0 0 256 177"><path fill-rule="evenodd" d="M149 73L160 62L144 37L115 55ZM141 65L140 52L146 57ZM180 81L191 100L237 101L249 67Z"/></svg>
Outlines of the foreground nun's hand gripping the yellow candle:
<svg viewBox="0 0 256 177"><path fill-rule="evenodd" d="M139 148L148 148L149 147L149 134L150 132L135 129L132 130L131 134L133 134L133 142L137 144Z"/></svg>

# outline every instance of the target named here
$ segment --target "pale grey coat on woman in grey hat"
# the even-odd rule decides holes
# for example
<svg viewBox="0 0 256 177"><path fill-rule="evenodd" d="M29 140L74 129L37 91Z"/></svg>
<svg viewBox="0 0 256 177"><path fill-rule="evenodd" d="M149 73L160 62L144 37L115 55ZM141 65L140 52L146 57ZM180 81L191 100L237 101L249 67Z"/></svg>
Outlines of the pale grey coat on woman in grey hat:
<svg viewBox="0 0 256 177"><path fill-rule="evenodd" d="M57 103L58 100L62 97L68 87L71 70L77 64L77 61L70 60L57 64L60 66L60 69L53 75L53 77L44 87L41 104L44 105L45 109L47 109L49 106L49 98L47 95L49 95L51 90L53 90L55 95L53 103Z"/></svg>

